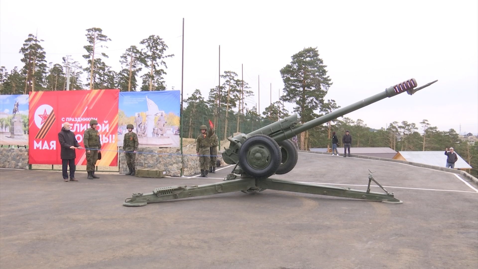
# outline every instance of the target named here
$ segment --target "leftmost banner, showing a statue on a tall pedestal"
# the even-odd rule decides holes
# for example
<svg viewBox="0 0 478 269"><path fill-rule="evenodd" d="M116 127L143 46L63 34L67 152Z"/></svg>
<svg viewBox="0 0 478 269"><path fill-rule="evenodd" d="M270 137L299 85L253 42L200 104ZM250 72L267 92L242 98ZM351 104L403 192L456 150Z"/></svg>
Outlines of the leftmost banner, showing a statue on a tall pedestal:
<svg viewBox="0 0 478 269"><path fill-rule="evenodd" d="M28 94L0 95L0 145L28 145Z"/></svg>

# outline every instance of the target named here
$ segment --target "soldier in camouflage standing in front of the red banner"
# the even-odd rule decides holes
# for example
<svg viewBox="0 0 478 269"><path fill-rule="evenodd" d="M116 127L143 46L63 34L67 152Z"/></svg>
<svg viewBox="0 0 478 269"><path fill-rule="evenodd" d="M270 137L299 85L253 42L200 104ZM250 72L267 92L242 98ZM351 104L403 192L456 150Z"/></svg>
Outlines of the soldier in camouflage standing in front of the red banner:
<svg viewBox="0 0 478 269"><path fill-rule="evenodd" d="M91 120L91 128L88 128L83 134L83 143L87 149L88 179L99 179L99 177L95 176L95 165L96 161L98 161L98 152L100 152L101 149L101 141L99 139L98 130L96 129L97 125L97 120Z"/></svg>

